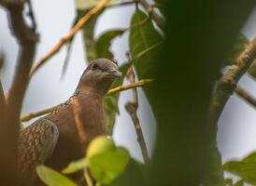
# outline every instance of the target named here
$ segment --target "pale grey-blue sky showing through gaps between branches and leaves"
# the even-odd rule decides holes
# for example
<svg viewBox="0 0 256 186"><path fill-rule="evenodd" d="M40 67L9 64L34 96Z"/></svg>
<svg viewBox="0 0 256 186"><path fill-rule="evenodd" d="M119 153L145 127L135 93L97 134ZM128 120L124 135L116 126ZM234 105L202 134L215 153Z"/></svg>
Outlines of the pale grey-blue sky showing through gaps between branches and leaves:
<svg viewBox="0 0 256 186"><path fill-rule="evenodd" d="M46 54L52 46L68 33L75 18L74 0L32 0L36 13L37 31L40 34L40 42L37 46L36 60ZM111 8L105 11L99 18L95 37L99 37L110 29L128 28L131 16L135 10L134 6ZM242 33L251 40L256 35L256 9L251 13L249 20L244 25ZM11 85L12 75L15 69L18 46L15 38L8 29L7 13L0 8L0 51L6 54L6 62L0 71L0 78L7 91ZM227 33L228 34L228 33ZM111 49L116 60L120 63L126 60L125 52L128 51L128 33L115 39ZM23 102L22 113L36 112L52 105L67 100L74 92L80 74L86 68L85 52L82 43L82 35L78 33L72 47L70 63L64 79L61 79L61 71L64 63L66 47L61 49L44 65L32 78ZM35 60L35 61L36 61ZM124 84L128 82L125 81ZM244 87L256 97L256 83L253 78L245 74L239 81ZM153 143L156 134L156 124L149 103L139 88L139 111L144 136L149 148L153 151ZM142 161L142 156L136 141L135 128L124 110L124 104L131 100L131 91L121 93L120 115L117 117L114 128L114 140L117 144L126 147L133 157ZM35 121L35 120L33 120ZM26 123L30 125L33 121ZM218 147L222 156L222 162L234 158L241 158L244 155L256 150L256 112L244 100L235 94L228 101L220 116L218 131Z"/></svg>

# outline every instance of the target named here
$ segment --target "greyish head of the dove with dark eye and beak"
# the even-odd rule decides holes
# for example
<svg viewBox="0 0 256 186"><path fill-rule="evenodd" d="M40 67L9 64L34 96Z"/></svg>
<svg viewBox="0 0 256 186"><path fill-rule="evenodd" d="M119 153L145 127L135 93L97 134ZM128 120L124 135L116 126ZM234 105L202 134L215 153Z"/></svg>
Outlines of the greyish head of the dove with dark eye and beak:
<svg viewBox="0 0 256 186"><path fill-rule="evenodd" d="M121 77L121 72L115 62L107 59L92 60L82 74L78 88L90 88L107 94L107 90L118 77Z"/></svg>

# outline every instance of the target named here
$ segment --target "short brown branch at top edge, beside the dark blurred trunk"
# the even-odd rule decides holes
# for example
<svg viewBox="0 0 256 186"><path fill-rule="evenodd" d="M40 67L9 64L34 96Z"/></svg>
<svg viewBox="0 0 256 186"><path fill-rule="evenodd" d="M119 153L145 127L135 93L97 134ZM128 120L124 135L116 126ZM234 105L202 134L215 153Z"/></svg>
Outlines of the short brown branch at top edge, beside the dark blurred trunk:
<svg viewBox="0 0 256 186"><path fill-rule="evenodd" d="M146 9L146 11L149 13L149 15L152 16L152 19L156 22L157 26L164 31L164 19L161 18L155 11L154 7L149 5L149 3L146 0L137 0L138 3Z"/></svg>

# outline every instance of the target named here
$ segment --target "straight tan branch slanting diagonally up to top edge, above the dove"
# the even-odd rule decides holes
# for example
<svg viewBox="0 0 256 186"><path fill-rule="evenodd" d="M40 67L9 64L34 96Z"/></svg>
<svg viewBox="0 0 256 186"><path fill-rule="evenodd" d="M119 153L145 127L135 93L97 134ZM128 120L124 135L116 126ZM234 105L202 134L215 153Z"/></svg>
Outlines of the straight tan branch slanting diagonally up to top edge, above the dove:
<svg viewBox="0 0 256 186"><path fill-rule="evenodd" d="M30 77L36 73L39 67L41 67L47 60L50 59L54 54L56 54L62 46L64 46L65 43L67 43L72 37L78 33L78 31L92 18L93 15L100 12L104 7L107 6L107 3L110 0L101 0L95 7L93 7L87 14L85 14L80 20L78 20L78 23L70 30L69 33L67 33L60 41L59 43L54 46L45 56L43 56L40 60L36 62L36 65L30 72Z"/></svg>

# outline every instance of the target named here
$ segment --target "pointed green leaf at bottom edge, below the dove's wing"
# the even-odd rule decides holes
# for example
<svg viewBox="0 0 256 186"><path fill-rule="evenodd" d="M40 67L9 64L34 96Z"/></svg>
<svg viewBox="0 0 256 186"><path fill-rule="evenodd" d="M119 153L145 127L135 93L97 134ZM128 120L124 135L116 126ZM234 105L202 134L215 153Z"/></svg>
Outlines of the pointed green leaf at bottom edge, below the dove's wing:
<svg viewBox="0 0 256 186"><path fill-rule="evenodd" d="M38 177L48 186L76 186L72 180L47 166L36 166Z"/></svg>

